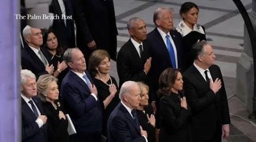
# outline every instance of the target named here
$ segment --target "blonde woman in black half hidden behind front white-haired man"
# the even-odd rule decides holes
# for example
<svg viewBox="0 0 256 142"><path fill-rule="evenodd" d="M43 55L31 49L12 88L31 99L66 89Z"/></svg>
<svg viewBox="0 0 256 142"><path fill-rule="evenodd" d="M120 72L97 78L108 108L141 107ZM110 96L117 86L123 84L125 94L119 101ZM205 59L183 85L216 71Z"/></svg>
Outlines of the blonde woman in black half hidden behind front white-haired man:
<svg viewBox="0 0 256 142"><path fill-rule="evenodd" d="M152 106L148 103L148 86L142 82L138 82L139 89L141 90L141 101L137 107L137 116L139 124L143 130L147 131L148 142L155 142L155 116Z"/></svg>

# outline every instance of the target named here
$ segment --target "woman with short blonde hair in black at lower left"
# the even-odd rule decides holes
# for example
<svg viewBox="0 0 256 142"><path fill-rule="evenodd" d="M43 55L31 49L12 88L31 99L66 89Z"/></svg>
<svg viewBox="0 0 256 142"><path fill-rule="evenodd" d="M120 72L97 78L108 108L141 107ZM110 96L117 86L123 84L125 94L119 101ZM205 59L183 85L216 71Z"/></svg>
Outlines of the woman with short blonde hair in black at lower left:
<svg viewBox="0 0 256 142"><path fill-rule="evenodd" d="M57 79L50 74L44 74L36 83L38 96L43 102L47 116L48 142L68 142L68 120L63 112L63 105L58 101L59 89Z"/></svg>

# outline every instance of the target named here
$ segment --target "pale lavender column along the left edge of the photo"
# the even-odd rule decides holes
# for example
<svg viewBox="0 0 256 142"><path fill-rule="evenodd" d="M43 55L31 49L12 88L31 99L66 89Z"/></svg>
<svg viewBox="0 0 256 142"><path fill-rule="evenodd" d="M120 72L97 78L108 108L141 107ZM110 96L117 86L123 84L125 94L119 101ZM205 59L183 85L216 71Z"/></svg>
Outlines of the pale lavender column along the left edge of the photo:
<svg viewBox="0 0 256 142"><path fill-rule="evenodd" d="M18 142L20 139L19 99L19 13L18 0L1 0L0 12L0 141Z"/></svg>

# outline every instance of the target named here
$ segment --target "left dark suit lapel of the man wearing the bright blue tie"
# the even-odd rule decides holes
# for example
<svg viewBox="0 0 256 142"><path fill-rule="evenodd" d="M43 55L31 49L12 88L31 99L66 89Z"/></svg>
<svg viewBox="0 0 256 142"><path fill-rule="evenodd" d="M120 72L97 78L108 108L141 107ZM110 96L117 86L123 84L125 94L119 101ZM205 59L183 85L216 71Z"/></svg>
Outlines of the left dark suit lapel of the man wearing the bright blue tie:
<svg viewBox="0 0 256 142"><path fill-rule="evenodd" d="M155 38L158 40L158 43L159 43L159 50L162 51L161 55L164 55L168 60L169 64L171 64L171 59L170 59L166 44L164 43L164 40L160 35L159 31L157 30L157 28L155 28L155 33L156 33Z"/></svg>

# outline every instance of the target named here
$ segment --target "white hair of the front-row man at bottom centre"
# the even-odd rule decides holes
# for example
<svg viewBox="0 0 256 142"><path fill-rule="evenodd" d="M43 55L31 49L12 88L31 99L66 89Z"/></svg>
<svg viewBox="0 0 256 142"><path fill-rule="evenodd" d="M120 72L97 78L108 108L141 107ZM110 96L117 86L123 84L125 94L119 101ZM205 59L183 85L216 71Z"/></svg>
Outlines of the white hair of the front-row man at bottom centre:
<svg viewBox="0 0 256 142"><path fill-rule="evenodd" d="M123 83L119 92L119 99L123 100L123 95L130 93L134 86L138 86L138 83L135 81L126 81Z"/></svg>

